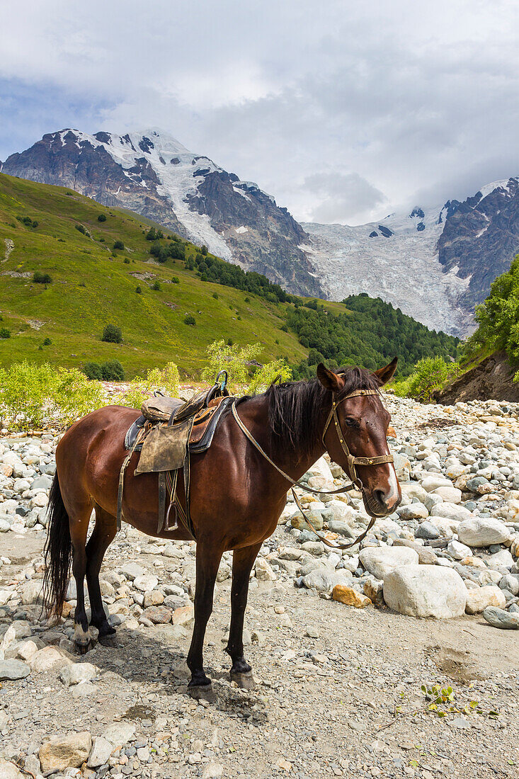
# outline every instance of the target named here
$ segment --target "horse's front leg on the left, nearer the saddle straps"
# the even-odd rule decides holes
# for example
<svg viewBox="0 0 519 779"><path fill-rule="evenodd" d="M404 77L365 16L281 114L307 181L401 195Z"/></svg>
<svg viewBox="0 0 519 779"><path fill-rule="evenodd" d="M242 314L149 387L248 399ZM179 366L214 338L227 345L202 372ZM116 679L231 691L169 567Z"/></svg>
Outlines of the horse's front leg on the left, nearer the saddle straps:
<svg viewBox="0 0 519 779"><path fill-rule="evenodd" d="M196 545L195 626L187 657L191 671L188 688L193 697L210 689L211 680L203 671L203 638L213 611L214 583L222 553L223 550L204 545L203 541Z"/></svg>

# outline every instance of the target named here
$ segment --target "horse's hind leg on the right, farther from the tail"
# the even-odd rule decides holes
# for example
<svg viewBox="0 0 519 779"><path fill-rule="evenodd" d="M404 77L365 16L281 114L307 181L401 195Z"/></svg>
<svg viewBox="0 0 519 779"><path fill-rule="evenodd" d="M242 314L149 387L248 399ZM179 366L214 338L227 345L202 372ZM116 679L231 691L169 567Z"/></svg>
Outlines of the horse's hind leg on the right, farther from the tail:
<svg viewBox="0 0 519 779"><path fill-rule="evenodd" d="M115 538L117 520L115 516L111 516L104 509L101 509L101 506L96 506L95 511L96 524L87 543L87 585L90 597L90 610L92 612L90 625L99 630L99 640L103 643L107 636L112 636L115 633L115 628L108 624L108 619L104 613L101 587L99 586L99 572L104 552L106 552L108 546Z"/></svg>

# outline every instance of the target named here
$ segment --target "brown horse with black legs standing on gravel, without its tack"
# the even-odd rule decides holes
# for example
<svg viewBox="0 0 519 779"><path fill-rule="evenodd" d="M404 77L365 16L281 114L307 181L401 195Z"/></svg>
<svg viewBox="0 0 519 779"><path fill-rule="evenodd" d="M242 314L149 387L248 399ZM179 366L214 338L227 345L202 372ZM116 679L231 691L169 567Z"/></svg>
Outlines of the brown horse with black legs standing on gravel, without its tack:
<svg viewBox="0 0 519 779"><path fill-rule="evenodd" d="M291 478L302 474L325 452L348 471L344 441L354 456L388 455L390 414L377 392L347 397L355 390L378 390L394 374L396 358L371 373L344 368L334 373L319 365L317 379L270 386L267 393L239 401L239 417L271 460ZM337 425L329 425L337 407ZM125 458L124 439L139 412L110 406L80 419L63 435L56 449L56 474L49 502L50 520L45 548L45 605L62 613L69 569L76 579L75 641L79 651L90 642L83 580L87 576L91 624L100 640L115 633L101 601L99 572L117 530L118 476ZM341 436L344 436L344 441ZM386 457L386 460L389 458ZM157 474L135 476L137 455L125 475L122 504L126 522L157 536ZM365 507L371 516L386 516L401 500L392 462L358 466ZM179 480L182 484L182 480ZM252 446L232 414L222 417L206 453L192 456L191 516L196 537L195 626L187 662L192 694L210 685L203 671L203 637L213 608L214 583L221 555L234 550L231 587L231 626L227 651L231 677L247 686L251 668L243 656L242 630L249 574L260 547L277 526L287 499L288 482ZM184 501L184 495L181 493ZM87 543L90 513L94 531ZM191 538L184 527L163 531L160 538ZM249 679L247 679L247 676Z"/></svg>

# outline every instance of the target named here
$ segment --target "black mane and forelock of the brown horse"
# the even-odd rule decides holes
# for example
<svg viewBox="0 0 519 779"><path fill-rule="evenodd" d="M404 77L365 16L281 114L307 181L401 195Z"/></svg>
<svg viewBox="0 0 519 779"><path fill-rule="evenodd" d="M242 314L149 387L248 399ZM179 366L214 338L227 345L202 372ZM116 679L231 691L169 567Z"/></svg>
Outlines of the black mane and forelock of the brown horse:
<svg viewBox="0 0 519 779"><path fill-rule="evenodd" d="M380 382L365 368L337 368L346 382L341 396L354 390L378 390ZM311 453L322 434L323 414L330 404L330 392L319 379L271 384L268 401L269 424L281 446L303 456Z"/></svg>

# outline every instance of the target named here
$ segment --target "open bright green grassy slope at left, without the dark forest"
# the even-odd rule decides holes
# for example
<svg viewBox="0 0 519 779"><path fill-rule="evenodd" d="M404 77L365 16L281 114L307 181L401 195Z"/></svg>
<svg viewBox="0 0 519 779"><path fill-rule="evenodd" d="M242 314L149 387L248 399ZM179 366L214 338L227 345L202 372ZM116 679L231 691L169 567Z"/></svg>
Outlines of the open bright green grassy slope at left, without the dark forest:
<svg viewBox="0 0 519 779"><path fill-rule="evenodd" d="M106 214L105 222L97 220L100 213ZM38 226L26 227L16 220L25 216L37 220ZM77 231L76 224L83 224L91 238ZM259 341L265 360L286 356L295 362L305 357L307 350L295 334L280 330L286 305L253 294L245 302L245 292L203 282L178 260L164 265L147 262L150 242L144 240L143 230L150 224L137 214L108 209L69 189L0 174L0 326L12 331L10 339L0 339L0 365L26 358L80 366L117 358L133 375L172 360L192 375L204 364L207 344L221 337L238 344ZM5 238L15 245L7 260ZM125 250L114 257L111 247L118 239ZM196 252L192 245L187 249ZM31 278L5 275L15 271L32 277L35 270L50 273L52 284L45 288ZM132 273L154 273L161 291L150 289L154 279L139 280ZM173 276L180 284L168 283ZM137 285L143 294L136 294ZM195 316L196 326L183 323L186 313ZM40 330L30 325L36 320L44 323ZM123 344L101 341L106 323L122 328ZM52 344L42 347L46 337Z"/></svg>

